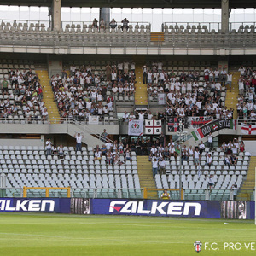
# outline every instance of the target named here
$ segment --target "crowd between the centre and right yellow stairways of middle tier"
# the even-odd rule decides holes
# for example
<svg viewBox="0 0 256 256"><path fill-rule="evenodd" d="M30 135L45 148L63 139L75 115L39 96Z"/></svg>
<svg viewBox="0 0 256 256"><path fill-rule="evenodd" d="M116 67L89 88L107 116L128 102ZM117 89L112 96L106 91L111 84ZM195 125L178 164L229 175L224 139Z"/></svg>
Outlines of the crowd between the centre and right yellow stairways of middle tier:
<svg viewBox="0 0 256 256"><path fill-rule="evenodd" d="M147 84L148 96L166 95L166 114L170 116L213 116L232 119L234 109L224 107L222 96L225 84L230 84L230 73L205 67L203 82L197 71L173 70L167 72L163 63L154 61L143 66L143 84ZM201 85L200 85L201 84Z"/></svg>

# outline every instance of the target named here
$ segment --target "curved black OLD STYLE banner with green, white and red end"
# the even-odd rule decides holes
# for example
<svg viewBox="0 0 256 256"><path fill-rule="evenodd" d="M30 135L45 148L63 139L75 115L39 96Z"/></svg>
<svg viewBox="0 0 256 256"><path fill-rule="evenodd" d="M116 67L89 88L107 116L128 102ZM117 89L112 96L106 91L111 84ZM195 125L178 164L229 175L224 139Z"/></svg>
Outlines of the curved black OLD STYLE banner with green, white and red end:
<svg viewBox="0 0 256 256"><path fill-rule="evenodd" d="M222 129L236 130L236 120L234 119L216 119L207 125L201 126L201 128L192 131L192 135L195 141L201 140L203 137L208 136L210 133L219 131Z"/></svg>

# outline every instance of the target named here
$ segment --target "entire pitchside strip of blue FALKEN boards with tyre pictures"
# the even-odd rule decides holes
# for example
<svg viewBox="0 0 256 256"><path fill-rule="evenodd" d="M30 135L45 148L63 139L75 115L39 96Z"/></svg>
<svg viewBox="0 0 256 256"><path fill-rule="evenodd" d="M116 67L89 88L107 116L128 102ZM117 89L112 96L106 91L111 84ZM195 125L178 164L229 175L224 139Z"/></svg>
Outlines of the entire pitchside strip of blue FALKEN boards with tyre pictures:
<svg viewBox="0 0 256 256"><path fill-rule="evenodd" d="M254 201L0 198L0 212L254 219Z"/></svg>

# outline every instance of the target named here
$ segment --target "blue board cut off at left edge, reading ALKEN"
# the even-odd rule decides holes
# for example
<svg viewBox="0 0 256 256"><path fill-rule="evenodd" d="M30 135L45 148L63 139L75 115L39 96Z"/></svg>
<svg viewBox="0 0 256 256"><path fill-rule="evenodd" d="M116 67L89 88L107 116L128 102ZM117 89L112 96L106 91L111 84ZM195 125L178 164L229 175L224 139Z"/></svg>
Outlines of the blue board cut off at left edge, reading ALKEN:
<svg viewBox="0 0 256 256"><path fill-rule="evenodd" d="M0 198L0 212L70 213L70 198Z"/></svg>

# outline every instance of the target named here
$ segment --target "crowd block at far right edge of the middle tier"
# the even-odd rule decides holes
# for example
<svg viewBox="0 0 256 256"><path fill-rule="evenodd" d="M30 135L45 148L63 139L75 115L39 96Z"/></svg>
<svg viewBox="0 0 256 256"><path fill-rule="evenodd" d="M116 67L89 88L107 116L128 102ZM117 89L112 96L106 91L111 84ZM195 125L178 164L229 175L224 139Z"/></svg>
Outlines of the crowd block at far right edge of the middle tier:
<svg viewBox="0 0 256 256"><path fill-rule="evenodd" d="M240 78L238 80L239 96L237 98L237 115L239 120L256 120L256 70L252 67L241 66L238 70Z"/></svg>

